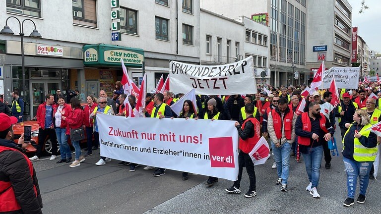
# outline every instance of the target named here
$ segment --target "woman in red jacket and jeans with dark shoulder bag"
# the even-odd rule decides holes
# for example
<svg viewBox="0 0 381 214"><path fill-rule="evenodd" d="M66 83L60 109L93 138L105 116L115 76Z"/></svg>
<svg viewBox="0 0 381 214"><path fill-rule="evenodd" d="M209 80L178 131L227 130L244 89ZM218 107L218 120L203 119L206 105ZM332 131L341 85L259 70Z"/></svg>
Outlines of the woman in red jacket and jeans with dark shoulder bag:
<svg viewBox="0 0 381 214"><path fill-rule="evenodd" d="M83 108L81 106L81 103L77 98L71 98L70 100L71 104L71 111L70 114L62 118L66 120L67 126L66 126L66 134L70 134L71 129L78 129L81 128L83 125L83 117L85 116L85 112L83 111ZM79 141L74 141L72 136L70 136L71 144L74 146L75 149L75 160L72 162L69 166L70 167L76 167L80 166L80 162L84 161L85 158L81 154L81 147L79 146Z"/></svg>

